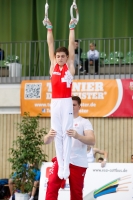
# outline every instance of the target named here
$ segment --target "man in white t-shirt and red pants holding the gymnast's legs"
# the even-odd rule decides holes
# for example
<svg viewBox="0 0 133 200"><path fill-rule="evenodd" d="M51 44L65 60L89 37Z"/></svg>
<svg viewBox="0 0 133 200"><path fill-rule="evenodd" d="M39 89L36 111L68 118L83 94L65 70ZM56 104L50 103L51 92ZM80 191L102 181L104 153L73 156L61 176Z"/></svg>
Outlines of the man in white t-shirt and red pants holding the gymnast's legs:
<svg viewBox="0 0 133 200"><path fill-rule="evenodd" d="M88 119L79 116L81 108L81 99L78 96L73 96L73 129L68 130L67 134L72 138L72 149L70 155L70 199L83 199L83 185L87 162L87 145L95 144L95 136L93 127ZM49 144L56 137L55 130L50 130L44 136L44 143ZM62 180L58 177L58 161L53 159L52 173L49 174L47 191L45 200L57 200L58 191L61 187Z"/></svg>

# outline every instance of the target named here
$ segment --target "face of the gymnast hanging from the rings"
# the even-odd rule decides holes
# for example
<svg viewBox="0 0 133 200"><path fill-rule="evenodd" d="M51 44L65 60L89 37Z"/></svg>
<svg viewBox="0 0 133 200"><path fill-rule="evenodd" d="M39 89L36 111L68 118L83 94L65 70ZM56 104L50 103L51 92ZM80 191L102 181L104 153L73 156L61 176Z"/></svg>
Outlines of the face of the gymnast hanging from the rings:
<svg viewBox="0 0 133 200"><path fill-rule="evenodd" d="M57 52L55 59L58 65L63 66L67 62L68 56L65 54L65 52Z"/></svg>

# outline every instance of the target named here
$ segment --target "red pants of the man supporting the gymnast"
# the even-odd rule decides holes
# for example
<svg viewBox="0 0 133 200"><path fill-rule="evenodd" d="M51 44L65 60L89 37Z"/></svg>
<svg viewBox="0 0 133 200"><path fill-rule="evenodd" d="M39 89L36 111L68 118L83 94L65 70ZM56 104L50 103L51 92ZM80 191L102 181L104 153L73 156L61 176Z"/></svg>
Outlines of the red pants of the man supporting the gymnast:
<svg viewBox="0 0 133 200"><path fill-rule="evenodd" d="M53 167L49 174L49 180L47 185L47 191L45 200L57 200L58 191L60 187L63 187L64 180L58 177L58 163L57 159L53 158ZM70 164L70 200L83 200L83 187L84 187L84 177L86 169L84 167L78 167Z"/></svg>

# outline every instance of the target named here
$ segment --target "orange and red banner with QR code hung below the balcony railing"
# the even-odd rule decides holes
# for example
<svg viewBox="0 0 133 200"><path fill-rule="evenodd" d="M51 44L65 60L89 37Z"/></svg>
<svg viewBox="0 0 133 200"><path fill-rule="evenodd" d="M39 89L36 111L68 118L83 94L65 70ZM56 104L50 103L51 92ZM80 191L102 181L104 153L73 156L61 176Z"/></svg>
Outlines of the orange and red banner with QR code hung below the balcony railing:
<svg viewBox="0 0 133 200"><path fill-rule="evenodd" d="M72 95L82 100L83 117L133 117L133 80L74 80ZM50 117L50 80L21 83L21 114ZM67 105L64 105L67 106Z"/></svg>

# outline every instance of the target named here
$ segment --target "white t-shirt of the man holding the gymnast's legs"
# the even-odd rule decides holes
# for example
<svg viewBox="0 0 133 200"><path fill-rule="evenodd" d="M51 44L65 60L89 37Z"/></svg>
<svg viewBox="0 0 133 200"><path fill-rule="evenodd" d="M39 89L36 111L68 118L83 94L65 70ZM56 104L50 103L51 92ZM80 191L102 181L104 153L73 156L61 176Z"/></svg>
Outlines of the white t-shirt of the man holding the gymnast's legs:
<svg viewBox="0 0 133 200"><path fill-rule="evenodd" d="M73 119L73 129L80 135L84 135L86 130L93 131L90 121L80 116ZM72 138L70 163L79 167L88 167L87 145L74 138Z"/></svg>

